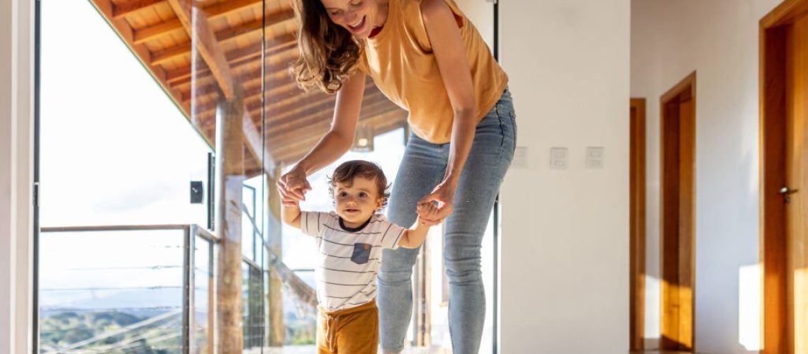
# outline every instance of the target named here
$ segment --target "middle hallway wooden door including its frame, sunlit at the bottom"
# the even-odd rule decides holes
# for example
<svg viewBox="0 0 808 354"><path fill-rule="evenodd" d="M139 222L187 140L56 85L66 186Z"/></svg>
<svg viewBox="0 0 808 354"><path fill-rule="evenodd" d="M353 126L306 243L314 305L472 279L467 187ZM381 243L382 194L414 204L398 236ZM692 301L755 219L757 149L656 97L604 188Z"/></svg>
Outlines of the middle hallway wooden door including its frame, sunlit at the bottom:
<svg viewBox="0 0 808 354"><path fill-rule="evenodd" d="M661 323L664 350L692 351L695 294L696 74L663 95Z"/></svg>

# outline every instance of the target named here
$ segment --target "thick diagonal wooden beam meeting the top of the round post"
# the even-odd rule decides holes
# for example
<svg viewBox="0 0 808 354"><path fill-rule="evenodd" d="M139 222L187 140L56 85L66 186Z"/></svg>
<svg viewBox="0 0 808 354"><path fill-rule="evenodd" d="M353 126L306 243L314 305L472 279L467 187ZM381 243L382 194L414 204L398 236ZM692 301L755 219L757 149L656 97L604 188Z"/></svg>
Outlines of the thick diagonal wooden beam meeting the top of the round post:
<svg viewBox="0 0 808 354"><path fill-rule="evenodd" d="M233 99L235 96L233 75L230 73L225 55L216 41L216 36L208 25L208 17L204 14L204 10L192 11L191 0L168 0L168 3L179 21L183 23L188 36L196 35L196 50L207 63L208 69L216 78L225 98ZM192 19L194 15L196 15L196 19Z"/></svg>

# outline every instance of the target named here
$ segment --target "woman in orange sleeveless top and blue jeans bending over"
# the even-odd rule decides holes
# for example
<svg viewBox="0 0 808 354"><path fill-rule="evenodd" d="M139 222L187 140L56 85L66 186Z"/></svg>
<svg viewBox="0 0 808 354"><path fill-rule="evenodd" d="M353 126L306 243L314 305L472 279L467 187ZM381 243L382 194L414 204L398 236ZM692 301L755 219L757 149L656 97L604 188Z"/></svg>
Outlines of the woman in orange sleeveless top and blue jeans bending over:
<svg viewBox="0 0 808 354"><path fill-rule="evenodd" d="M440 207L431 221L446 222L453 352L477 353L485 318L482 235L516 146L507 75L453 0L297 0L295 10L301 56L292 73L305 89L337 99L330 131L280 177L280 193L305 200L306 177L351 148L370 75L409 111L413 131L388 219L411 225L419 203ZM404 348L416 256L416 249L382 256L377 301L385 352Z"/></svg>

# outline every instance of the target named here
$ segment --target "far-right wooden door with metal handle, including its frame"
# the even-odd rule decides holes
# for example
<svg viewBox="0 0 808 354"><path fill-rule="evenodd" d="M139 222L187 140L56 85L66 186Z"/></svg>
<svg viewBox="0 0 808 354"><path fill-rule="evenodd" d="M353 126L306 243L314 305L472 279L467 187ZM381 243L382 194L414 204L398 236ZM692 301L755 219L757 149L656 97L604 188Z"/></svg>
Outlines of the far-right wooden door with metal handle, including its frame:
<svg viewBox="0 0 808 354"><path fill-rule="evenodd" d="M764 353L808 352L808 0L760 21Z"/></svg>

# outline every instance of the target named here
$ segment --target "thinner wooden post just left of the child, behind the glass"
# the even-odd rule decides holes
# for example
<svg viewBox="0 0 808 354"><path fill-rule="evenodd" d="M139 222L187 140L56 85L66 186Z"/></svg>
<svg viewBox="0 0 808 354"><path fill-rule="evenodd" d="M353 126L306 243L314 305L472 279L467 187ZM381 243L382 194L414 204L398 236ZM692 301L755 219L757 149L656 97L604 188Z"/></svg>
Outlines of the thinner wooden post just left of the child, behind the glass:
<svg viewBox="0 0 808 354"><path fill-rule="evenodd" d="M276 167L275 176L280 176L280 167ZM282 239L281 219L280 219L280 194L275 187L276 179L267 176L267 218L269 223L267 235L270 252L265 252L267 259L274 256L281 256ZM267 264L270 264L267 261ZM284 345L284 297L283 282L275 267L269 268L269 291L267 292L267 304L269 307L269 327L267 327L267 346L283 347Z"/></svg>

